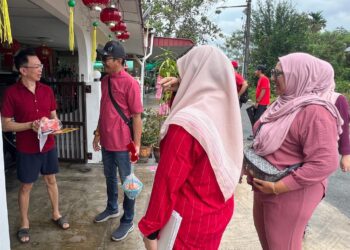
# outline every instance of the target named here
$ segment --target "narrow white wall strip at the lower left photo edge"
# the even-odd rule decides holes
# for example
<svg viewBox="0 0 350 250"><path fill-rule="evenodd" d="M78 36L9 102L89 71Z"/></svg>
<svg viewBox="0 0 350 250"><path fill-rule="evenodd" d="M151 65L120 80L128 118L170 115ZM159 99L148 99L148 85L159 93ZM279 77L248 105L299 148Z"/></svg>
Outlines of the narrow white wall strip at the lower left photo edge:
<svg viewBox="0 0 350 250"><path fill-rule="evenodd" d="M0 123L0 131L1 123ZM0 249L8 250L10 248L9 223L7 216L6 185L5 185L5 166L2 150L2 133L0 133Z"/></svg>

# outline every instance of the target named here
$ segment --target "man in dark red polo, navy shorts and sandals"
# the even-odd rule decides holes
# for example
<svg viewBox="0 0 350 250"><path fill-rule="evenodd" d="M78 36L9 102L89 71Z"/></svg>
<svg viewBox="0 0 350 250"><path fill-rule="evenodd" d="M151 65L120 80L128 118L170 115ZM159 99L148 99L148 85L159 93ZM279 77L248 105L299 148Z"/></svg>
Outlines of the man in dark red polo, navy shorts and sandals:
<svg viewBox="0 0 350 250"><path fill-rule="evenodd" d="M29 242L28 208L30 191L39 173L46 182L52 204L52 220L62 229L68 221L58 208L58 158L53 135L49 135L40 152L37 130L42 117L57 119L56 101L52 89L39 82L43 65L34 50L25 49L15 57L15 66L21 78L4 95L1 110L2 130L16 132L17 177L21 182L18 203L21 227L17 232L20 242Z"/></svg>

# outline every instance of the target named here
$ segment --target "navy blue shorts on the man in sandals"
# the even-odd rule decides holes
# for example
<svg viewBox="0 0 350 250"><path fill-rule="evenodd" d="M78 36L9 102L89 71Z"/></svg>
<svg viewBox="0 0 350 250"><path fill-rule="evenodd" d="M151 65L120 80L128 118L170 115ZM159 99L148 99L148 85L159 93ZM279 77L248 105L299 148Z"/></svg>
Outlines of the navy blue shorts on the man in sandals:
<svg viewBox="0 0 350 250"><path fill-rule="evenodd" d="M56 148L45 153L27 154L17 151L17 178L22 183L34 183L39 173L51 175L58 173Z"/></svg>

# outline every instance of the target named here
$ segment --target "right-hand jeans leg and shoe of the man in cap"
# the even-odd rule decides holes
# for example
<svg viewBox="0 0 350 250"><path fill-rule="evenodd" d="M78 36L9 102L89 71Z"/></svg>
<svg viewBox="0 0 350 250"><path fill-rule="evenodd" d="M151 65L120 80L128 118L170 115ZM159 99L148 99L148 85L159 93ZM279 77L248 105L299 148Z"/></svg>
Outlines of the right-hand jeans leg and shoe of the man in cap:
<svg viewBox="0 0 350 250"><path fill-rule="evenodd" d="M129 152L117 152L117 162L119 176L122 183L124 183L126 177L131 174L131 164ZM115 241L120 241L125 239L128 234L134 230L134 208L135 200L129 199L124 193L123 201L124 214L120 219L119 227L113 232L112 239Z"/></svg>

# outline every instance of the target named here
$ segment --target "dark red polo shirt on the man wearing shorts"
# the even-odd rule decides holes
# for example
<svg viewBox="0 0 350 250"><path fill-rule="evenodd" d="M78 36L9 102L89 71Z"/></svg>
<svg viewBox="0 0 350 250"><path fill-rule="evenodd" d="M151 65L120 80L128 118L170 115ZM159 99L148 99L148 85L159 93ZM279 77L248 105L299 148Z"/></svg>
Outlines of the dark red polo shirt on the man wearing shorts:
<svg viewBox="0 0 350 250"><path fill-rule="evenodd" d="M42 117L50 117L56 110L56 100L52 89L40 82L36 83L35 94L30 92L21 82L7 88L2 105L1 115L14 118L18 123L32 122ZM55 146L53 135L49 135L42 152ZM16 149L22 153L39 153L38 135L28 129L16 132Z"/></svg>

